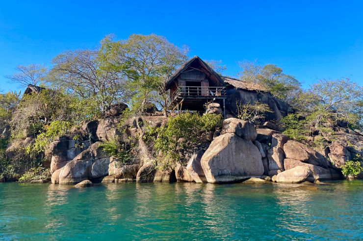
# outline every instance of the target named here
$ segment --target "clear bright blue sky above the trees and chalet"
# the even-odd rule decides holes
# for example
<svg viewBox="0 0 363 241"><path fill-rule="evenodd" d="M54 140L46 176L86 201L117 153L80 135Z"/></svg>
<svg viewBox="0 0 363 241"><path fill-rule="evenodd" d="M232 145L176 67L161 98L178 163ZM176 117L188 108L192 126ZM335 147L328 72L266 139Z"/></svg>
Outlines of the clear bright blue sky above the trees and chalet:
<svg viewBox="0 0 363 241"><path fill-rule="evenodd" d="M363 0L17 1L0 3L0 89L18 64L95 47L109 33L164 35L190 56L273 63L306 87L320 78L363 84Z"/></svg>

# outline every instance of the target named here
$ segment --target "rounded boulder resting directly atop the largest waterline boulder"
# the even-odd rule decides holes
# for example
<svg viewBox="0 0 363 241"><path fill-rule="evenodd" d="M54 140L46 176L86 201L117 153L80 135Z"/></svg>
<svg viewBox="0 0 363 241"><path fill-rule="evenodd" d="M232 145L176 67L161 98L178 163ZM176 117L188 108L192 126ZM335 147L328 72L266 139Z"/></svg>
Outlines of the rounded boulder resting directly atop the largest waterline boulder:
<svg viewBox="0 0 363 241"><path fill-rule="evenodd" d="M248 121L237 118L228 118L223 121L221 134L234 133L245 140L256 140L257 132L255 127Z"/></svg>

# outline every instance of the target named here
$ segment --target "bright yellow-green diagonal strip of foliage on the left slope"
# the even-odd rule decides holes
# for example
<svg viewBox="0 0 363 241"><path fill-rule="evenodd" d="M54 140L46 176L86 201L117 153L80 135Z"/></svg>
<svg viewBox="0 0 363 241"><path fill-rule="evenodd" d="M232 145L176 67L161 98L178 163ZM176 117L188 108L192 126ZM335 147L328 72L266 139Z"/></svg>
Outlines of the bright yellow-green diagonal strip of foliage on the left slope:
<svg viewBox="0 0 363 241"><path fill-rule="evenodd" d="M32 158L35 158L43 152L46 145L51 143L55 137L67 134L71 128L71 124L68 121L53 121L44 128L46 131L37 135L34 143L28 145L25 149L25 153Z"/></svg>

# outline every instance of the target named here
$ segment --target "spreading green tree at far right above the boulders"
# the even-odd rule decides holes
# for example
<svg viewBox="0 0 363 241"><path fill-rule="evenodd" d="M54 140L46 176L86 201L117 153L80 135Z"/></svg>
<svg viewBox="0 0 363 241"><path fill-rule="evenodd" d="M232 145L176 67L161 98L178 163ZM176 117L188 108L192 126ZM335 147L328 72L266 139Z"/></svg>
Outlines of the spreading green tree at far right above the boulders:
<svg viewBox="0 0 363 241"><path fill-rule="evenodd" d="M362 128L363 88L349 79L319 80L295 98L296 114L282 119L285 134L297 140L311 139L326 146L334 139L334 127Z"/></svg>

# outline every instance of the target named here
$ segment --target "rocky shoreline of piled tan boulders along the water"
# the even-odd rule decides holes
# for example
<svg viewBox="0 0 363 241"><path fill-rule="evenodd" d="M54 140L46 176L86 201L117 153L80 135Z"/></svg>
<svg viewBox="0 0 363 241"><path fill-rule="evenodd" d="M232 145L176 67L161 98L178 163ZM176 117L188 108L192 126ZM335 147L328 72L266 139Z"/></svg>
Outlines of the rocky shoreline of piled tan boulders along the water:
<svg viewBox="0 0 363 241"><path fill-rule="evenodd" d="M217 111L218 112L218 111ZM304 183L343 179L340 167L355 149L333 142L319 153L279 131L267 128L255 129L236 118L223 121L219 130L209 133L202 147L189 151L187 161L175 163L170 170L155 166L155 157L149 152L143 138L142 126L165 125L166 117L157 115L136 116L126 123L124 133L116 128L119 118L108 118L84 123L71 135L61 136L46 148L52 183L75 185L85 180L92 183L126 182L195 182L238 183L277 182ZM270 125L271 126L271 125ZM345 139L358 139L356 132L341 132ZM75 136L83 136L75 140ZM85 137L88 136L88 139ZM123 136L123 140L137 141L139 162L123 164L103 149L103 141ZM11 146L8 148L10 152ZM19 154L17 154L19 155ZM334 160L334 161L332 161ZM46 181L32 181L43 183ZM87 185L88 186L88 185Z"/></svg>

